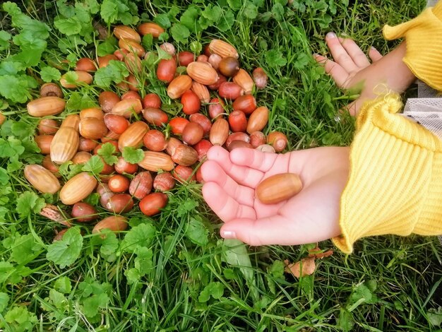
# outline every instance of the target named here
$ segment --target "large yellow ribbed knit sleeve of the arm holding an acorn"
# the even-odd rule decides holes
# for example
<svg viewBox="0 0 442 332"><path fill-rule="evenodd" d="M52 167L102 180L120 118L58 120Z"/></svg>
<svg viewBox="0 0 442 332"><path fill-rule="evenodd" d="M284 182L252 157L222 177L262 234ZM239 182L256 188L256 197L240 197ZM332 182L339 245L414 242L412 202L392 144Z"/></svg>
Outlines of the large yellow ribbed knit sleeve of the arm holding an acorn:
<svg viewBox="0 0 442 332"><path fill-rule="evenodd" d="M335 245L373 235L442 234L442 141L397 114L398 95L366 102L350 151Z"/></svg>

